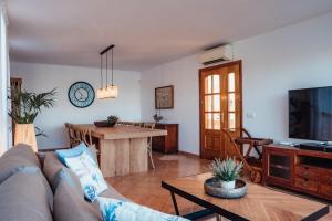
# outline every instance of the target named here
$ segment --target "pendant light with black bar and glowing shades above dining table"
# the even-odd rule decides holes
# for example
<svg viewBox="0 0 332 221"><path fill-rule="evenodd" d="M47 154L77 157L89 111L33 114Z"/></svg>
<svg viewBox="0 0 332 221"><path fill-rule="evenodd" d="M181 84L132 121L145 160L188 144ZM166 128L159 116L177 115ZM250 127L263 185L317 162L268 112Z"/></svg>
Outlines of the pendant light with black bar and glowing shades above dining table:
<svg viewBox="0 0 332 221"><path fill-rule="evenodd" d="M114 71L114 60L113 60L113 49L114 45L107 46L105 50L103 50L101 54L101 88L97 90L97 98L104 99L104 98L116 98L117 97L117 86L114 85L114 77L113 77L113 71ZM111 66L111 84L107 85L108 82L108 51L112 52L112 66ZM105 87L103 87L103 54L106 53L106 83Z"/></svg>

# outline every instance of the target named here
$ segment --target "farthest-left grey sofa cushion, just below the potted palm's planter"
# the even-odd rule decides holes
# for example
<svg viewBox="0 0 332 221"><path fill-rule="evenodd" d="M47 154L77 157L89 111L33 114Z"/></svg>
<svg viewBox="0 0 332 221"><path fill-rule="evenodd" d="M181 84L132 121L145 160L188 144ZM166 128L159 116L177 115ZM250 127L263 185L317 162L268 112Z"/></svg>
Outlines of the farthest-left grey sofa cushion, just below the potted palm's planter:
<svg viewBox="0 0 332 221"><path fill-rule="evenodd" d="M0 183L25 166L40 168L32 148L27 145L18 145L9 149L0 158Z"/></svg>

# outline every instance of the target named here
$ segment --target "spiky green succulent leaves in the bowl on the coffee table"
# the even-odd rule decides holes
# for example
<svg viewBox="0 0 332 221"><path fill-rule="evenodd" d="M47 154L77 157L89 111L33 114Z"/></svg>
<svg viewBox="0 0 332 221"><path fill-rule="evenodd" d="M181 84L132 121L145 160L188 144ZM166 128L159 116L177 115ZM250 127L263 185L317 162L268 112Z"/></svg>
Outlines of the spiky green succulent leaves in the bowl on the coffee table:
<svg viewBox="0 0 332 221"><path fill-rule="evenodd" d="M242 162L237 162L234 158L227 158L226 160L215 159L210 169L214 177L221 181L234 181L239 177L243 167Z"/></svg>

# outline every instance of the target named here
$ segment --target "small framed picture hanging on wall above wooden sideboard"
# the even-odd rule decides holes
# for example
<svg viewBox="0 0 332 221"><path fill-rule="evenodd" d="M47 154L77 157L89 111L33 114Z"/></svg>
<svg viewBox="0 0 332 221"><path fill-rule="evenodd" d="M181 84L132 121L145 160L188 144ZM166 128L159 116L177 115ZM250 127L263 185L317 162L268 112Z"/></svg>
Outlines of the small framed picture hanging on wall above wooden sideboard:
<svg viewBox="0 0 332 221"><path fill-rule="evenodd" d="M155 88L155 107L156 109L174 108L174 86L163 86Z"/></svg>

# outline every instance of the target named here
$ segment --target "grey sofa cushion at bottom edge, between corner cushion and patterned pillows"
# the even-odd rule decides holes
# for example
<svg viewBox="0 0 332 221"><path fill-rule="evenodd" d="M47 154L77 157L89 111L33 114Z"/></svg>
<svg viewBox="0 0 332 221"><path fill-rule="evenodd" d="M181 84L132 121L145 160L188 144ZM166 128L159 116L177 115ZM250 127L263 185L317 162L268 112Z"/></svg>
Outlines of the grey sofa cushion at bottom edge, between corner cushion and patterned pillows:
<svg viewBox="0 0 332 221"><path fill-rule="evenodd" d="M97 203L87 202L69 182L61 181L54 194L53 218L55 221L102 220Z"/></svg>

